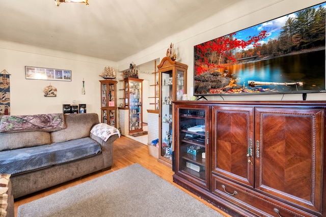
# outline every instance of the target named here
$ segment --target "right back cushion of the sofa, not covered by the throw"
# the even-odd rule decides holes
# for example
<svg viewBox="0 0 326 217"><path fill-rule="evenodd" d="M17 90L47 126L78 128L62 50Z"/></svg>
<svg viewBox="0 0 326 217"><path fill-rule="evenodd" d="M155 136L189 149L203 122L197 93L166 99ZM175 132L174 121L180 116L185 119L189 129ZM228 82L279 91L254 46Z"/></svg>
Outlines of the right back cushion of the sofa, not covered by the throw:
<svg viewBox="0 0 326 217"><path fill-rule="evenodd" d="M91 128L99 123L96 113L65 114L66 129L51 132L51 142L65 142L89 137Z"/></svg>

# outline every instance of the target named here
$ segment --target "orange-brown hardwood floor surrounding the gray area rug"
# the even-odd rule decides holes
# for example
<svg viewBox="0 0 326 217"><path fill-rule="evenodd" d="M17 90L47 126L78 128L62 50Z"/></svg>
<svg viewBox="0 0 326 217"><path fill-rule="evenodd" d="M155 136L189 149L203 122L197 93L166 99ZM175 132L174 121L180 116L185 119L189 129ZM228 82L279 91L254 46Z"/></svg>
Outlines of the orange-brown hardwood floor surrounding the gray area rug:
<svg viewBox="0 0 326 217"><path fill-rule="evenodd" d="M87 176L83 176L78 179L74 179L72 181L65 182L63 184L57 185L56 187L52 187L50 189L37 192L35 194L31 194L29 196L21 197L15 200L14 206L15 206L15 216L17 216L17 209L18 206L29 203L31 201L40 199L42 197L54 194L56 192L60 192L62 190L65 190L67 188L73 187L74 185L83 183L85 181L89 181L91 179L97 178L99 176L105 175L107 173L114 172L116 170L119 170L121 168L127 167L129 165L132 165L134 163L139 163L143 167L147 168L148 170L152 171L153 173L157 174L161 178L164 178L165 180L169 181L170 183L174 184L184 192L188 193L189 195L192 195L193 197L197 198L198 200L202 201L209 207L215 209L216 211L221 212L225 216L230 216L221 210L217 209L213 205L207 203L206 201L202 200L201 198L197 197L196 195L192 194L191 192L186 191L185 189L179 187L179 185L175 184L173 182L172 175L174 172L172 169L164 164L158 163L157 159L150 156L148 153L148 147L147 145L144 145L140 142L137 142L135 140L132 140L128 137L121 136L121 138L117 139L114 142L114 165L111 170L104 171L104 172L96 172L89 174Z"/></svg>

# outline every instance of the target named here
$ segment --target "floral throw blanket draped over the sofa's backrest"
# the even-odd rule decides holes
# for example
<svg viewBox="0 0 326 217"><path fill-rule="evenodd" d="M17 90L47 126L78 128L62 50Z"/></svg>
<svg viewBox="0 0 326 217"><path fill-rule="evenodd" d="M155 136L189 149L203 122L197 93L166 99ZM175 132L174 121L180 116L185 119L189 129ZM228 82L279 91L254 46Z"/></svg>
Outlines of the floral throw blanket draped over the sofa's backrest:
<svg viewBox="0 0 326 217"><path fill-rule="evenodd" d="M0 121L0 132L23 131L58 131L65 129L64 115L36 114L36 115L4 115Z"/></svg>

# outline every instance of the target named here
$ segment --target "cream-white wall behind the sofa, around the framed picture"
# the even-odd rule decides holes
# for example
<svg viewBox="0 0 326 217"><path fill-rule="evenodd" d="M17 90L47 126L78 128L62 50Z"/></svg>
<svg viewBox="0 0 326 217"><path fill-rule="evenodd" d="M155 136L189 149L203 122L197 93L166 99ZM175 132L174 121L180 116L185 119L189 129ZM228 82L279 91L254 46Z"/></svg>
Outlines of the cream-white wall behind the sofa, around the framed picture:
<svg viewBox="0 0 326 217"><path fill-rule="evenodd" d="M87 112L100 117L99 76L104 67L118 69L117 63L67 52L0 41L0 72L10 76L10 114L60 113L62 104L87 104ZM71 81L25 79L25 66L71 70ZM83 78L86 95L82 95ZM44 97L44 87L58 89L57 97Z"/></svg>

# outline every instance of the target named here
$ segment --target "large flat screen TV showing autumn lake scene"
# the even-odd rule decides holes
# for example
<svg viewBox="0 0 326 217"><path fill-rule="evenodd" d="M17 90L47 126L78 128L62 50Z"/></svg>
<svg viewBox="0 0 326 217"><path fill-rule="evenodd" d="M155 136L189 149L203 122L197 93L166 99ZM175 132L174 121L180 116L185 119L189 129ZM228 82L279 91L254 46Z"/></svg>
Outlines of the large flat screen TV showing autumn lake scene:
<svg viewBox="0 0 326 217"><path fill-rule="evenodd" d="M194 96L326 92L326 2L194 46Z"/></svg>

